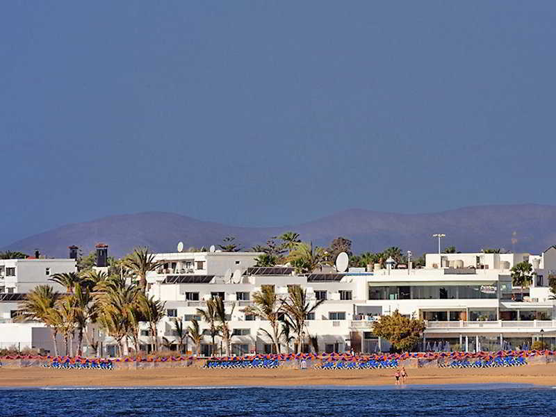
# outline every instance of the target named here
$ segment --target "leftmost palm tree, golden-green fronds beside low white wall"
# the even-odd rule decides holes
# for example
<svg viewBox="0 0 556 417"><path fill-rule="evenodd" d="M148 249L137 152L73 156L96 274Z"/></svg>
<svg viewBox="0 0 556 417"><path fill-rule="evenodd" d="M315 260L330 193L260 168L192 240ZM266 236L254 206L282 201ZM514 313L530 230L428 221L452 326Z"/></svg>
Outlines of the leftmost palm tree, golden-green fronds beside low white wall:
<svg viewBox="0 0 556 417"><path fill-rule="evenodd" d="M60 329L60 320L57 320L53 311L59 298L60 293L54 291L51 286L36 286L33 291L25 295L24 300L19 304L19 311L16 316L17 321L38 321L50 327L55 356L58 356L56 336L58 335L58 329Z"/></svg>

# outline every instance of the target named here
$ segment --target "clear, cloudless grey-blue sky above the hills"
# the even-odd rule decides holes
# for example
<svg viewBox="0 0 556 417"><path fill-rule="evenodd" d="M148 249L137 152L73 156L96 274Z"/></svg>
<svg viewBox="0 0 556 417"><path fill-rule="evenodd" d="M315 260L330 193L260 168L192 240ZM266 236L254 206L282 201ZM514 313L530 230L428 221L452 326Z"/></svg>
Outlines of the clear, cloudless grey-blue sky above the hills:
<svg viewBox="0 0 556 417"><path fill-rule="evenodd" d="M556 204L554 1L6 1L0 243Z"/></svg>

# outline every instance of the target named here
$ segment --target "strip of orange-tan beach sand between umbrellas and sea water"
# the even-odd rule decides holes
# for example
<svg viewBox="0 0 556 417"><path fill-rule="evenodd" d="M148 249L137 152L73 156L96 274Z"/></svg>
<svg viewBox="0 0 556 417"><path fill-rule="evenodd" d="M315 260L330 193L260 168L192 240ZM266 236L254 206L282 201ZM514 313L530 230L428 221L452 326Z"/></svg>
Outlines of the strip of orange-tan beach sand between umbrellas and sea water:
<svg viewBox="0 0 556 417"><path fill-rule="evenodd" d="M0 368L0 386L365 386L393 385L395 370L150 368L59 370ZM537 384L556 386L556 364L515 368L411 368L411 384Z"/></svg>

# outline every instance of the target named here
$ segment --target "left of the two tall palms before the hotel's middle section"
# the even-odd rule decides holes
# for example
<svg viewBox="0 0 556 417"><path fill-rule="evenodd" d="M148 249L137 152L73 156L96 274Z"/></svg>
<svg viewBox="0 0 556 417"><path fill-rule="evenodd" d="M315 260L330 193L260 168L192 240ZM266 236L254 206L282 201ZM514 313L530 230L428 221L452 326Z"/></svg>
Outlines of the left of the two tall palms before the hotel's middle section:
<svg viewBox="0 0 556 417"><path fill-rule="evenodd" d="M277 297L274 288L271 286L261 287L261 291L253 294L253 306L247 306L243 309L243 313L252 314L261 320L268 320L272 334L266 329L261 329L261 332L270 337L272 343L275 345L276 353L280 353L280 322L279 316L281 315L281 306L283 302Z"/></svg>

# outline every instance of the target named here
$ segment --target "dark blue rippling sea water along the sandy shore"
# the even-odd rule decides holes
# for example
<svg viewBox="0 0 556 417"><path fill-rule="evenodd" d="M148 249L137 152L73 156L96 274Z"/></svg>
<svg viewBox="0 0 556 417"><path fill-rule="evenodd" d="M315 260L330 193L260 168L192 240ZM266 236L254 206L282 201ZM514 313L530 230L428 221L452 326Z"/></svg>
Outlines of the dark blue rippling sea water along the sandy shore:
<svg viewBox="0 0 556 417"><path fill-rule="evenodd" d="M510 384L0 389L0 416L556 416L556 389Z"/></svg>

